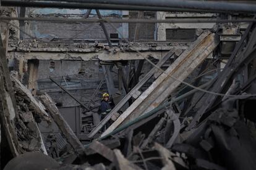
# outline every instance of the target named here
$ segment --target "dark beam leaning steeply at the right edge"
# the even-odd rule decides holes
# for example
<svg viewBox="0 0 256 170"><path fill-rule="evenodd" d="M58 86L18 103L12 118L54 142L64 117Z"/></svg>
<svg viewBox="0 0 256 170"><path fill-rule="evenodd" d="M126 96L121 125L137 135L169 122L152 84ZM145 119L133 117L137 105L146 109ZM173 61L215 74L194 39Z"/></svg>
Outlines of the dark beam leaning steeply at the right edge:
<svg viewBox="0 0 256 170"><path fill-rule="evenodd" d="M228 89L229 86L231 86L233 77L236 76L236 73L240 73L241 69L243 69L244 66L247 65L245 61L251 61L252 59L254 59L256 53L256 28L254 26L253 30L251 30L251 28L252 24L250 24L250 26L243 34L241 40L236 44L236 47L231 54L231 57L229 57L228 63L226 63L226 66L220 72L218 77L215 78L215 81L213 82L213 84L211 84L211 87L208 88L208 91L222 94L226 93L225 89ZM246 42L248 41L248 38L249 42ZM203 114L207 112L208 108L211 108L214 103L216 103L218 100L221 100L221 97L218 95L203 94L203 96L203 103L207 103L207 105L199 105L200 108L197 110L197 113L195 113L192 122L187 127L187 130L194 128L197 125L199 119L203 116Z"/></svg>

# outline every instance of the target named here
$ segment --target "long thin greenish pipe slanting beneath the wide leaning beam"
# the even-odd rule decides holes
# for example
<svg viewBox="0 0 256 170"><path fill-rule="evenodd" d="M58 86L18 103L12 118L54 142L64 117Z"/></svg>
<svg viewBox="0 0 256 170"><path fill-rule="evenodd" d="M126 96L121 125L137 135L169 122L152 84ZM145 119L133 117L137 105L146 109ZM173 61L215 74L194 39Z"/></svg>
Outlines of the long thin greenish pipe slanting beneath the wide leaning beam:
<svg viewBox="0 0 256 170"><path fill-rule="evenodd" d="M199 86L198 88L203 89L203 88L207 87L210 83L211 83L211 81L203 84L202 86ZM132 126L133 124L138 123L139 121L150 117L151 115L157 113L158 111L162 110L163 108L168 107L171 103L178 102L179 100L185 99L186 97L189 97L189 95L192 95L197 91L198 91L198 89L193 89L192 91L189 91L186 94L182 94L179 97L176 97L175 99L171 100L170 102L163 103L163 105L160 105L159 107L154 108L153 110L149 111L148 113L145 113L145 114L139 116L138 118L135 118L134 120L129 121L128 123L118 127L117 129L114 129L114 131L110 132L109 134L106 134L106 136L100 137L99 140L105 139L106 137L109 137L109 136L113 136L114 134L117 134L118 132L123 131L127 127Z"/></svg>

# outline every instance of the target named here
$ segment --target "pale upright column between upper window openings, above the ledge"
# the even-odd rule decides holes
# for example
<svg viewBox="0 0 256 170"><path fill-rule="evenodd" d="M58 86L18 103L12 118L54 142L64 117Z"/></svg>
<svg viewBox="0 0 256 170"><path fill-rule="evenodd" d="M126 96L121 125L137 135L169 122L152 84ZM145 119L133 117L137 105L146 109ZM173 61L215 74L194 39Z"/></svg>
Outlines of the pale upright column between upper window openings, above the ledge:
<svg viewBox="0 0 256 170"><path fill-rule="evenodd" d="M156 19L165 20L165 12L156 12ZM155 29L155 40L156 41L166 41L166 24L156 23Z"/></svg>

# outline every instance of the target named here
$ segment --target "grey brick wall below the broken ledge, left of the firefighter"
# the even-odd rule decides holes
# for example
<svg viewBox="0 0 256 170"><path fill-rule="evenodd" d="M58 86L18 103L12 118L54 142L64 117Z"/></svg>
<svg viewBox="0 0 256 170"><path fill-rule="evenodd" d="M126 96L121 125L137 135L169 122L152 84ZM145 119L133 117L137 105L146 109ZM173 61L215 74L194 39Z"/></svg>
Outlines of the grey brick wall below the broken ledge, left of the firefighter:
<svg viewBox="0 0 256 170"><path fill-rule="evenodd" d="M92 97L100 80L104 78L97 61L40 60L37 80L38 91L47 92L55 102L62 103L62 106L79 104L48 79L49 76L53 77L59 84L61 83L83 103ZM66 81L62 76L65 76Z"/></svg>

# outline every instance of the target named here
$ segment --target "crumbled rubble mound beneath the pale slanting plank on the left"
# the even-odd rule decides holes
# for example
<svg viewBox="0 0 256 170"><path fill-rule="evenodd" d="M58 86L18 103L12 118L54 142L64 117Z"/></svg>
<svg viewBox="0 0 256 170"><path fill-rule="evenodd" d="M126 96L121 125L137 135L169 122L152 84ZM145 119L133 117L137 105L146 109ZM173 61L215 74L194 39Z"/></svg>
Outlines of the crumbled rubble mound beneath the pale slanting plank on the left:
<svg viewBox="0 0 256 170"><path fill-rule="evenodd" d="M17 116L14 118L15 131L19 143L19 152L46 152L36 123L41 119L50 122L44 111L38 108L39 103L32 94L14 76L12 76Z"/></svg>

